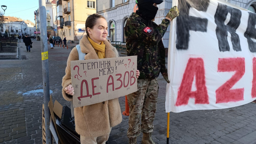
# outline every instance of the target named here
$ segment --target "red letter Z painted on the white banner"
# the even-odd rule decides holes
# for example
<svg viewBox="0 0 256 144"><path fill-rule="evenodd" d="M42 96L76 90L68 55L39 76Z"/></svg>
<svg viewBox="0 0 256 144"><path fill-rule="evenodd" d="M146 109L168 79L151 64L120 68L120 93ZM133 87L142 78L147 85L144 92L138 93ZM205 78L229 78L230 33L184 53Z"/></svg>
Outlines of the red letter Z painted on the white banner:
<svg viewBox="0 0 256 144"><path fill-rule="evenodd" d="M218 72L236 72L216 90L216 104L244 100L244 88L231 89L244 75L244 58L219 58Z"/></svg>

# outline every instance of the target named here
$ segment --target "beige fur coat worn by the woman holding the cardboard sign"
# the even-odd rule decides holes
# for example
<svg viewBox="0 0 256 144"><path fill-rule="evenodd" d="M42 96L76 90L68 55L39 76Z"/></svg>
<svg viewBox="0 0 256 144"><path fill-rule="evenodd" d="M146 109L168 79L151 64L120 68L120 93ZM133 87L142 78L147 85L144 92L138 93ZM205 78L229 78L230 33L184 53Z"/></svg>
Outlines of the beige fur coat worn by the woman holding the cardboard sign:
<svg viewBox="0 0 256 144"><path fill-rule="evenodd" d="M107 40L105 44L105 58L116 57ZM99 59L88 37L80 40L81 52L86 53L85 60ZM66 75L62 79L62 95L65 100L72 101L73 96L65 93L64 88L71 84L70 61L79 60L78 51L72 49L67 59ZM98 137L110 133L110 128L122 122L121 109L118 98L113 100L92 104L84 107L74 108L76 132L85 137Z"/></svg>

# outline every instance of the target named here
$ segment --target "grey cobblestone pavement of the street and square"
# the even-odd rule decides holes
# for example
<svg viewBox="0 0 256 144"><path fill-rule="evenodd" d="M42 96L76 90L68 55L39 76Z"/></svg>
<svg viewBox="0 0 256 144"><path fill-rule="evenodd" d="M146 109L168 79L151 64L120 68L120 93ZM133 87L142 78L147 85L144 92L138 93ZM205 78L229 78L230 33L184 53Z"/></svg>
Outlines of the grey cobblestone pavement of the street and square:
<svg viewBox="0 0 256 144"><path fill-rule="evenodd" d="M19 44L20 60L0 60L0 144L42 144L43 89L40 41L33 41L31 52ZM49 45L48 45L48 48ZM70 49L55 47L49 52L49 78L53 101L67 104L61 95ZM21 60L21 55L26 60ZM153 139L166 144L166 81L158 78L159 96L154 121ZM125 97L119 98L122 111ZM112 128L108 144L128 144L128 117ZM137 138L140 143L142 135ZM170 113L171 144L256 144L256 104L219 110L193 110Z"/></svg>

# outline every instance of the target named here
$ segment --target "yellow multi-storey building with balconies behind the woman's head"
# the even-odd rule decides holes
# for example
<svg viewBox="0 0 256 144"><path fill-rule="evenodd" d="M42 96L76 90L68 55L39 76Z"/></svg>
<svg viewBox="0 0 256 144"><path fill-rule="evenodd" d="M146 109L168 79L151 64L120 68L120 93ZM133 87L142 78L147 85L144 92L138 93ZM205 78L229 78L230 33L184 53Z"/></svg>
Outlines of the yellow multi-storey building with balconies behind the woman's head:
<svg viewBox="0 0 256 144"><path fill-rule="evenodd" d="M96 0L58 0L56 10L58 36L79 43L87 17L96 13Z"/></svg>

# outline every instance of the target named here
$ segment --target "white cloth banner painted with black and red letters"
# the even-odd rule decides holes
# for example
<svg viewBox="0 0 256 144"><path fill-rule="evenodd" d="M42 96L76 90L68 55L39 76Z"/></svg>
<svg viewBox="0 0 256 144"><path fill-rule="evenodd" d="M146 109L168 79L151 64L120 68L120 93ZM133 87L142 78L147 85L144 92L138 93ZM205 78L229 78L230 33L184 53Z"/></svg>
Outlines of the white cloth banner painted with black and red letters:
<svg viewBox="0 0 256 144"><path fill-rule="evenodd" d="M187 4L186 4L187 3ZM256 99L256 14L223 0L173 0L166 112Z"/></svg>

